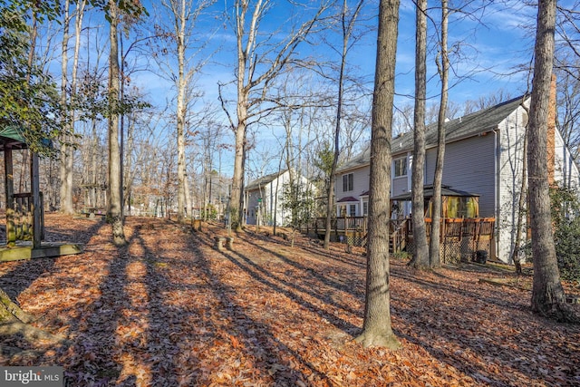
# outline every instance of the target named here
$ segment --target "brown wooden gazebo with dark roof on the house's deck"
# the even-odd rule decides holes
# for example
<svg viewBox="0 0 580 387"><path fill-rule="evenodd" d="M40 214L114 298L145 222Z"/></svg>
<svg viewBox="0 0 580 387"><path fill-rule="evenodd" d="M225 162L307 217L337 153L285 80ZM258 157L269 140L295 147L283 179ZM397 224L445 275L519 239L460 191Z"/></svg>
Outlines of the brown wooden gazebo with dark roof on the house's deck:
<svg viewBox="0 0 580 387"><path fill-rule="evenodd" d="M432 218L433 186L423 187L425 218ZM411 191L391 197L391 201L411 201ZM479 218L479 195L441 186L442 218Z"/></svg>

